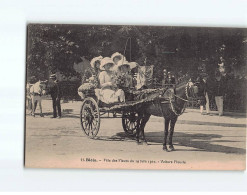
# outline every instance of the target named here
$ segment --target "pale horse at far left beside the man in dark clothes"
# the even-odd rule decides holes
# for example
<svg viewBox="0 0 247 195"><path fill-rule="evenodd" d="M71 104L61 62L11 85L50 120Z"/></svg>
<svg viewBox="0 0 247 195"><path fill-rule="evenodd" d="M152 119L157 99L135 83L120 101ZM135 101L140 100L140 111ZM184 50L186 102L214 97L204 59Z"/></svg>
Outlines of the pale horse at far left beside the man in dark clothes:
<svg viewBox="0 0 247 195"><path fill-rule="evenodd" d="M46 91L47 90L47 84L48 84L47 80L38 81L35 84L33 84L29 89L29 93L31 96L31 102L32 102L31 115L34 117L35 117L35 109L36 109L37 103L39 104L40 116L44 117L44 115L42 113L41 101L42 101L42 96L47 93L47 91Z"/></svg>

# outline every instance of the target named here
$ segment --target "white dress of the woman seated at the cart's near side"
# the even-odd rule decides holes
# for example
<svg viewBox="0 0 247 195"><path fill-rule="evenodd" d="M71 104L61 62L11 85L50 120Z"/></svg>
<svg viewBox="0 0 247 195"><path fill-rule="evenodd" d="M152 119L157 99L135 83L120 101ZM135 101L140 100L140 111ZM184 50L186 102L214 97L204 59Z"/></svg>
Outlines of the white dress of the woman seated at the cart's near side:
<svg viewBox="0 0 247 195"><path fill-rule="evenodd" d="M95 94L99 100L106 104L125 101L123 90L112 86L115 82L114 79L115 75L113 73L103 71L99 74L101 89L95 90Z"/></svg>

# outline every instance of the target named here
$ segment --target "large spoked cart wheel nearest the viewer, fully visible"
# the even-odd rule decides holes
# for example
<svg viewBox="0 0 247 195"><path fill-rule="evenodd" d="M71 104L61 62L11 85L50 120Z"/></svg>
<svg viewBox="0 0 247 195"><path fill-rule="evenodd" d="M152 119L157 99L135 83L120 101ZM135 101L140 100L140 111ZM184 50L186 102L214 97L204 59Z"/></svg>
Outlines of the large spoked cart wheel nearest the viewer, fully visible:
<svg viewBox="0 0 247 195"><path fill-rule="evenodd" d="M82 102L80 112L81 127L86 136L94 138L100 127L100 112L97 102L88 97Z"/></svg>

